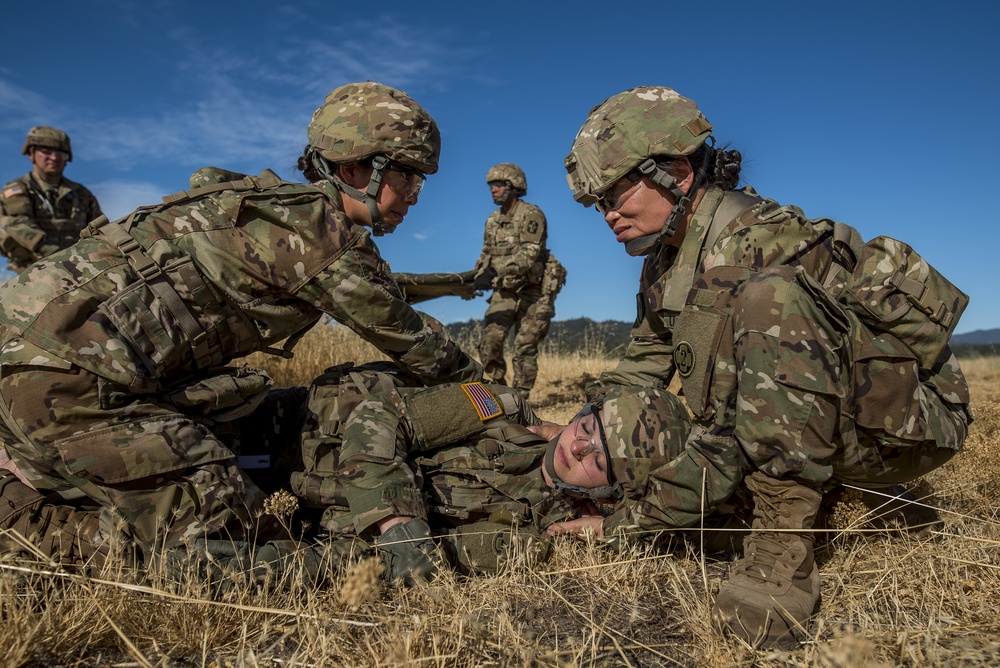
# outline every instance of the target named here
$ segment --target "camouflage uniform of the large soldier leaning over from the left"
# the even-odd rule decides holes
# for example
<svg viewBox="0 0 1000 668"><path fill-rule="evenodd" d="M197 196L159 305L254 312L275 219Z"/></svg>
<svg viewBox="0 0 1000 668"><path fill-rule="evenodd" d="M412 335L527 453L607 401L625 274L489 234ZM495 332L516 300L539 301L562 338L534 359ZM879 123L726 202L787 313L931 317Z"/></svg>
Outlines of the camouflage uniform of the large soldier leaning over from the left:
<svg viewBox="0 0 1000 668"><path fill-rule="evenodd" d="M115 508L146 545L238 532L259 510L263 495L204 412L178 398L203 392L178 392L322 313L423 382L481 377L440 323L402 300L329 183L248 179L254 187L138 210L127 221L138 255L99 228L0 288L12 458L40 490ZM245 385L234 391L252 393ZM123 483L130 494L115 495Z"/></svg>

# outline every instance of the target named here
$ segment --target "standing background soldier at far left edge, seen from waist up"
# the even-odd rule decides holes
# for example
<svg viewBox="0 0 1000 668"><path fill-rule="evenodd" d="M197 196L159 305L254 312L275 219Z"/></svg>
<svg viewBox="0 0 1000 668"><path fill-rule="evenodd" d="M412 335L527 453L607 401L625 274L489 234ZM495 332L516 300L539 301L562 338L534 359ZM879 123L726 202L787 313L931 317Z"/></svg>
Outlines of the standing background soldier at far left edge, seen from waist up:
<svg viewBox="0 0 1000 668"><path fill-rule="evenodd" d="M39 126L28 131L21 153L31 171L0 191L0 253L20 273L39 258L72 246L87 223L101 215L89 190L63 176L73 161L69 136Z"/></svg>

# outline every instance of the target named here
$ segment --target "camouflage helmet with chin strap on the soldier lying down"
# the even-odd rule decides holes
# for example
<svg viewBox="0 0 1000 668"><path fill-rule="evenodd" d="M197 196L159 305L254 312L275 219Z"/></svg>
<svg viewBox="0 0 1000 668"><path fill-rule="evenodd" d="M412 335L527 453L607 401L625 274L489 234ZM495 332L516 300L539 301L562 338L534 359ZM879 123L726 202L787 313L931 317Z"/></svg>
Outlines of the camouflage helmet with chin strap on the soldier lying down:
<svg viewBox="0 0 1000 668"><path fill-rule="evenodd" d="M584 406L573 419L598 411L601 445L608 461L608 485L589 489L559 480L553 466L558 437L546 447L546 472L557 489L576 496L605 501L640 498L646 493L650 472L683 451L691 429L687 411L670 392L616 386L600 401Z"/></svg>

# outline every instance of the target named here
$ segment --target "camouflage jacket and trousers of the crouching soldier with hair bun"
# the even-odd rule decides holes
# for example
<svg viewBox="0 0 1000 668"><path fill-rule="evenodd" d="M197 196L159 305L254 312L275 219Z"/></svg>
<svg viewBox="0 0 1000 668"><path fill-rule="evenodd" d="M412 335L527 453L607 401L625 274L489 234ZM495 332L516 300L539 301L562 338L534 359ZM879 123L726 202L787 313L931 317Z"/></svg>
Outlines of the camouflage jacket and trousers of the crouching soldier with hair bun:
<svg viewBox="0 0 1000 668"><path fill-rule="evenodd" d="M836 299L834 227L750 188L711 187L680 248L646 258L632 342L601 383L665 387L676 371L693 428L646 497L605 519L606 535L693 525L754 469L887 485L961 447L971 414L957 360L945 348L919 368Z"/></svg>

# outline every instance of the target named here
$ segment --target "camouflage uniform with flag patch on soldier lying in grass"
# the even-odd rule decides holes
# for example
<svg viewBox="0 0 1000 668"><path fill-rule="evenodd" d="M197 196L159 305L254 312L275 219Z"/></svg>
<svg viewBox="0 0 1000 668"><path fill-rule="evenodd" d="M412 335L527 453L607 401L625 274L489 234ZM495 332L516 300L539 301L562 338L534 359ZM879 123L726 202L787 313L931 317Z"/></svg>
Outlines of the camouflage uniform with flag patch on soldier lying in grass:
<svg viewBox="0 0 1000 668"><path fill-rule="evenodd" d="M542 478L546 442L524 428L540 420L515 390L397 388L382 376L370 392L345 397L342 378L350 382L335 368L311 388L305 471L292 475L293 491L324 509L324 529L367 538L389 517L442 530L492 516L541 530L573 513Z"/></svg>

